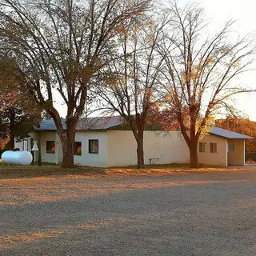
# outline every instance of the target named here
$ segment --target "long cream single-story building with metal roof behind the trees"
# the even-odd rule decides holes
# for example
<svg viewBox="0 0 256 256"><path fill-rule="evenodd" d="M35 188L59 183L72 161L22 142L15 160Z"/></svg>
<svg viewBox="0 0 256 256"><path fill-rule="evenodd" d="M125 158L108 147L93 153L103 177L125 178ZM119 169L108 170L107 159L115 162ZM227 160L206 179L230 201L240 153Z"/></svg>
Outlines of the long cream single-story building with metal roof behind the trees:
<svg viewBox="0 0 256 256"><path fill-rule="evenodd" d="M65 122L63 121L65 126ZM31 150L31 140L40 142L42 162L62 162L62 143L53 120L42 121L30 138L17 142ZM211 166L245 164L245 140L250 137L213 128L198 145L198 162ZM81 166L130 166L137 164L136 141L120 117L81 118L75 134L74 163ZM146 164L189 163L190 152L180 131L150 130L144 133Z"/></svg>

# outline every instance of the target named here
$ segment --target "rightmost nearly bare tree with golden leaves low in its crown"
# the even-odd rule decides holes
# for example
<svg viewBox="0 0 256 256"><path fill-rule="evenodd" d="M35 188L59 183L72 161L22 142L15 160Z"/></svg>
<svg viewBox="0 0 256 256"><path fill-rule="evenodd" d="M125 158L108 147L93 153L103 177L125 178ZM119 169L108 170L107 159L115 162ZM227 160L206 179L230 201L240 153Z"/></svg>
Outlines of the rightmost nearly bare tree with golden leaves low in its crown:
<svg viewBox="0 0 256 256"><path fill-rule="evenodd" d="M172 1L168 12L172 16L170 30L165 31L161 45L162 56L166 56L162 83L166 105L175 114L190 149L191 167L198 167L198 140L209 130L214 115L222 107L232 108L229 100L234 94L250 91L234 78L249 69L255 46L247 38L231 39L231 21L206 37L203 10L195 3L180 9Z"/></svg>

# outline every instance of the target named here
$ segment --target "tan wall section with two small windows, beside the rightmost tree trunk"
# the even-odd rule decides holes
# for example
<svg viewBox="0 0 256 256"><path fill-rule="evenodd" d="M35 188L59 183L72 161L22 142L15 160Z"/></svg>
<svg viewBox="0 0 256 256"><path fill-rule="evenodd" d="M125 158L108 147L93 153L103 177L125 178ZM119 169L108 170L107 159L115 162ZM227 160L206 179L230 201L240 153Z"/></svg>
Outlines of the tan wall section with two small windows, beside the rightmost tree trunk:
<svg viewBox="0 0 256 256"><path fill-rule="evenodd" d="M206 143L206 152L199 152L198 162L210 166L227 166L227 140L214 135L206 135L200 142ZM210 153L210 143L217 143L217 153Z"/></svg>

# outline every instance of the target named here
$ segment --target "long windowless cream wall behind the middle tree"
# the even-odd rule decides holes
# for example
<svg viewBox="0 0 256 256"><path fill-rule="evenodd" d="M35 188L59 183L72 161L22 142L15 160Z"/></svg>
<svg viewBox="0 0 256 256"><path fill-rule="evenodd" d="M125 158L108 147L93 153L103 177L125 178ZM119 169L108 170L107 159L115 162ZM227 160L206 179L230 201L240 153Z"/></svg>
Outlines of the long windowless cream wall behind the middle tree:
<svg viewBox="0 0 256 256"><path fill-rule="evenodd" d="M130 130L109 130L107 144L107 166L130 166L137 164L137 143ZM150 164L150 158L159 158L154 163L190 162L186 142L178 131L144 132L144 160Z"/></svg>

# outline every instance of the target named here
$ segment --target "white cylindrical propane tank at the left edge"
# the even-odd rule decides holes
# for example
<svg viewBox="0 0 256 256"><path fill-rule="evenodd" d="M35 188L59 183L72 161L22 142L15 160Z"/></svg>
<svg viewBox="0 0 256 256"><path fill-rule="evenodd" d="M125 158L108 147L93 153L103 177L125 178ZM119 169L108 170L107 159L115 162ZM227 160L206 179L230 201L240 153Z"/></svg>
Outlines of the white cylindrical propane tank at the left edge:
<svg viewBox="0 0 256 256"><path fill-rule="evenodd" d="M28 166L33 161L32 154L28 151L7 150L2 153L2 162L14 165Z"/></svg>

